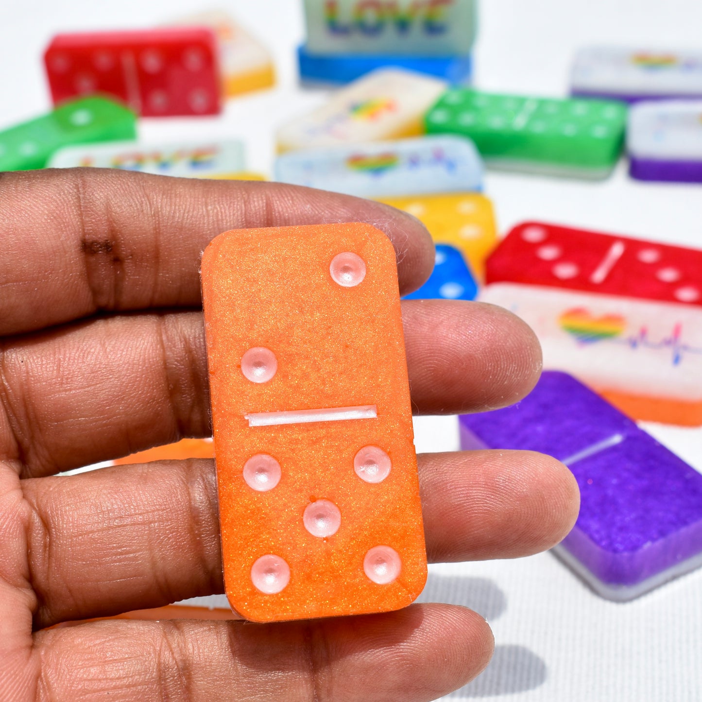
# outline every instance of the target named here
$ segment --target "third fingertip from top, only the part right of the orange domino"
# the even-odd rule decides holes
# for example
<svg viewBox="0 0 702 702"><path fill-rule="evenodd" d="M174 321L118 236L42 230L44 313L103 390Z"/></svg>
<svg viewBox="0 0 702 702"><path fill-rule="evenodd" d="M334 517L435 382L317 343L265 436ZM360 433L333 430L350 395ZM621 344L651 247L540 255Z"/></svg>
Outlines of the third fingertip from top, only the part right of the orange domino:
<svg viewBox="0 0 702 702"><path fill-rule="evenodd" d="M559 543L578 518L576 479L543 453L426 453L421 465L432 561L533 555Z"/></svg>

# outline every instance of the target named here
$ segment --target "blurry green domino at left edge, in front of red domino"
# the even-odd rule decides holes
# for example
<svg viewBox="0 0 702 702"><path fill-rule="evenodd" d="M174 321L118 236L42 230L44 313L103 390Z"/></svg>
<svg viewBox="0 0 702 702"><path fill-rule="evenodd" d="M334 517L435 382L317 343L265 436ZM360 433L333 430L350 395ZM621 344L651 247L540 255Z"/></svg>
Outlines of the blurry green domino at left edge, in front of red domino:
<svg viewBox="0 0 702 702"><path fill-rule="evenodd" d="M107 98L81 98L0 131L0 171L44 168L53 152L72 144L136 138L136 116Z"/></svg>

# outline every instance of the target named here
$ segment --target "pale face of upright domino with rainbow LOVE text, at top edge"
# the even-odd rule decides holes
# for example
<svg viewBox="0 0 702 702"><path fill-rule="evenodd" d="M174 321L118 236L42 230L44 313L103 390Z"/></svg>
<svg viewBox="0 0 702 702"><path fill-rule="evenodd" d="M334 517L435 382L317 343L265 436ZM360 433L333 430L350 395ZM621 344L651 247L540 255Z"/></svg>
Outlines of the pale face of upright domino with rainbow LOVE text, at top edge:
<svg viewBox="0 0 702 702"><path fill-rule="evenodd" d="M470 53L475 0L305 0L314 54L455 56Z"/></svg>

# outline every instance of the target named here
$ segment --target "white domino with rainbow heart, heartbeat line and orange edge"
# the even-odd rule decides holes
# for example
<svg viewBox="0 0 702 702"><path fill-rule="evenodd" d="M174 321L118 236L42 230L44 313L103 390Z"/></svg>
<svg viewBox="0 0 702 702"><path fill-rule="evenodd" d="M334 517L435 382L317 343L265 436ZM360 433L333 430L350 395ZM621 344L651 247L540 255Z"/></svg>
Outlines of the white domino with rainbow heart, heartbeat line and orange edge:
<svg viewBox="0 0 702 702"><path fill-rule="evenodd" d="M702 310L522 283L493 283L478 299L534 329L543 367L587 383L628 416L702 425Z"/></svg>

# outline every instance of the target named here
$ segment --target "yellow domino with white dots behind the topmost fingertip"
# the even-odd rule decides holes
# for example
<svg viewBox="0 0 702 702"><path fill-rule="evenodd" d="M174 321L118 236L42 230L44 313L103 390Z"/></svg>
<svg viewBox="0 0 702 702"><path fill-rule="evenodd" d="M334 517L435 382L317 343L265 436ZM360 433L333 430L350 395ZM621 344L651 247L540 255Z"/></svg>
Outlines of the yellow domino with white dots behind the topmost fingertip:
<svg viewBox="0 0 702 702"><path fill-rule="evenodd" d="M437 244L463 253L477 279L484 279L485 259L497 244L492 202L475 192L380 198L421 220Z"/></svg>

